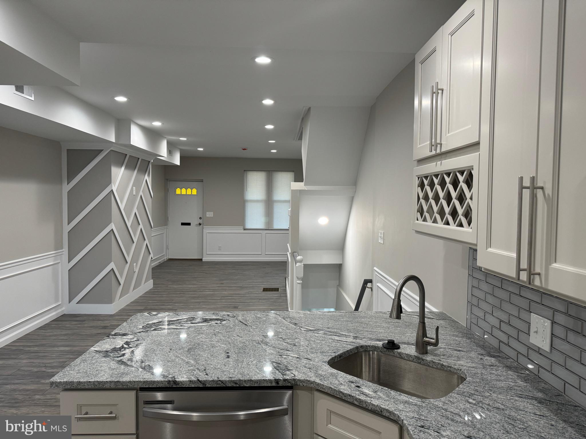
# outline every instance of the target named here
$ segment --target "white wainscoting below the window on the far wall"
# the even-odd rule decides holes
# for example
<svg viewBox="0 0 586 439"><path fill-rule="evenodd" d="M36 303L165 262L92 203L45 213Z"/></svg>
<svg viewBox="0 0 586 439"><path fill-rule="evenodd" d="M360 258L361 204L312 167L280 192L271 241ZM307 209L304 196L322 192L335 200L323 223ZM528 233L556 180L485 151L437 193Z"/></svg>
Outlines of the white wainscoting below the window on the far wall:
<svg viewBox="0 0 586 439"><path fill-rule="evenodd" d="M204 227L203 260L287 260L289 231Z"/></svg>

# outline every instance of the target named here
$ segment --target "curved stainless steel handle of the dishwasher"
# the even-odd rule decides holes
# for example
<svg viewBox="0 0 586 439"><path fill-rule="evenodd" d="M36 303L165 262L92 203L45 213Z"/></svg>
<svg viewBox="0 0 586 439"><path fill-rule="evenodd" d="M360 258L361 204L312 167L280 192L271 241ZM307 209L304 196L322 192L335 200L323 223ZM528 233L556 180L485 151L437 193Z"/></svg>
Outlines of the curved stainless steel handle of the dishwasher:
<svg viewBox="0 0 586 439"><path fill-rule="evenodd" d="M268 409L241 410L241 411L176 411L151 409L144 407L142 416L155 419L173 421L240 421L245 419L260 419L273 416L283 416L289 413L288 406L268 407Z"/></svg>

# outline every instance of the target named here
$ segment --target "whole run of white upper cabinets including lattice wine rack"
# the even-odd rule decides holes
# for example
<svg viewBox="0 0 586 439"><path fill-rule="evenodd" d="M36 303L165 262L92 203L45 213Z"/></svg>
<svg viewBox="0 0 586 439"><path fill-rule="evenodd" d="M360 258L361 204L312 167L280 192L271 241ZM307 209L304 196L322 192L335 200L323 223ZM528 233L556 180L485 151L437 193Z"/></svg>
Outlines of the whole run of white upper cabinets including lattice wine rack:
<svg viewBox="0 0 586 439"><path fill-rule="evenodd" d="M483 269L582 303L584 23L584 0L465 2L415 58L413 181L415 231L477 243ZM466 187L444 169L468 170Z"/></svg>

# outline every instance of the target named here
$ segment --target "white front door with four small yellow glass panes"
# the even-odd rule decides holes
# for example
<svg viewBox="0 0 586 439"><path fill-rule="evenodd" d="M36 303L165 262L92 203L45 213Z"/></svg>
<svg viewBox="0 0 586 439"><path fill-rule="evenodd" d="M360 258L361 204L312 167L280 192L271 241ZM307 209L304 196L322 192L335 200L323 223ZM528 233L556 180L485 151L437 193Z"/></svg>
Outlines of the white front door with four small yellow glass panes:
<svg viewBox="0 0 586 439"><path fill-rule="evenodd" d="M169 258L201 259L203 182L169 181Z"/></svg>

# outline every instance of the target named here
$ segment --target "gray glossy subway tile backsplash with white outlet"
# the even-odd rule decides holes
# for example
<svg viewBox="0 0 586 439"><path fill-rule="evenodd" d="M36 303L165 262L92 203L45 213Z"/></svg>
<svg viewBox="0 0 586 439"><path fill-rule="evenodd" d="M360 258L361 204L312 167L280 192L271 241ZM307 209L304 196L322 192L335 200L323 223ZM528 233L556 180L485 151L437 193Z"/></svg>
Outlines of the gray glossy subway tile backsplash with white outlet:
<svg viewBox="0 0 586 439"><path fill-rule="evenodd" d="M586 307L485 273L468 257L468 329L586 408ZM529 342L531 313L553 321L551 351Z"/></svg>

